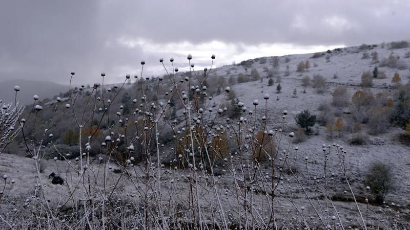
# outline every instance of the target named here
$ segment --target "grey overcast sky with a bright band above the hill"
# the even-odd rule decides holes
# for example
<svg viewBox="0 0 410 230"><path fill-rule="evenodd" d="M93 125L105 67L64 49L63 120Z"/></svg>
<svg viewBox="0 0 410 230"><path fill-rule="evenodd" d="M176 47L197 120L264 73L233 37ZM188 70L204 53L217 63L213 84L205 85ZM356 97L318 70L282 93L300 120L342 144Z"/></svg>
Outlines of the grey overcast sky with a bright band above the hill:
<svg viewBox="0 0 410 230"><path fill-rule="evenodd" d="M0 80L119 82L163 74L159 58L199 67L408 40L408 0L1 1Z"/></svg>

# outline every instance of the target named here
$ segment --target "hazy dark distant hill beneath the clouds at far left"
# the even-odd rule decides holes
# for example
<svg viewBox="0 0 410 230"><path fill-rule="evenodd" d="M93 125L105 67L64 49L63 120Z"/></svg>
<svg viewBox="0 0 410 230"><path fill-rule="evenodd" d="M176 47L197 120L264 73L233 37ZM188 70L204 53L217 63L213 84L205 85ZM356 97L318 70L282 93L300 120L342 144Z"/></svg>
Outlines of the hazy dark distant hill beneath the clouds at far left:
<svg viewBox="0 0 410 230"><path fill-rule="evenodd" d="M11 79L0 81L0 99L3 102L14 101L14 86L20 86L17 100L24 104L33 103L33 95L38 95L40 100L53 98L60 92L68 90L68 85L60 85L48 81L34 81L23 79Z"/></svg>

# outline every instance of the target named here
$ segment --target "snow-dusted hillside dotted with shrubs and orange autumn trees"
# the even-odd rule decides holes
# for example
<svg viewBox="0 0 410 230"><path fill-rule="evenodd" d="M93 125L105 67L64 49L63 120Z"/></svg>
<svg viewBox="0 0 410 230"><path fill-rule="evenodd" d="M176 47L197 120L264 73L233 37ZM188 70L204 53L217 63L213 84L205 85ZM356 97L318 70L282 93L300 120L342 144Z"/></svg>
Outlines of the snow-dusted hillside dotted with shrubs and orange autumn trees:
<svg viewBox="0 0 410 230"><path fill-rule="evenodd" d="M190 221L196 224L204 218L209 226L230 225L234 229L240 221L249 219L261 228L269 228L273 227L272 221L264 224L272 218L275 207L274 222L279 226L323 228L323 221L331 229L360 228L363 223L357 206L363 214L372 211L368 222L366 216L369 228L384 224L387 228L408 228L410 141L403 128L410 118L410 105L403 98L410 97L410 48L394 48L392 43L372 44L317 54L261 57L212 68L205 74L178 73L170 78L162 76L163 71L158 73L160 77L126 85L122 90L122 83L105 86L104 91L100 86L96 90L75 90L74 106L68 98L63 105L57 101L39 102L44 109L35 113L36 123L27 121L30 128L25 131L29 140L33 134L33 143L40 143L35 145L41 150L33 153L44 158L44 169L36 172L34 166L30 167L31 158L2 154L0 175L15 179L15 185L8 184L5 194L9 200L29 199L34 188L26 181L40 183L39 176L45 183L44 196L52 197L50 204L54 207L66 201L67 194L74 194L76 201L72 198L70 207L78 209L77 201L86 205L90 200L86 206L91 212L94 202L109 200L107 190L118 199L108 205L121 213L128 209L121 202L137 207L130 212L138 215L148 215L144 211L147 209L164 215L183 213L178 214L181 223L170 223L171 226L185 226ZM372 85L363 85L366 72ZM392 82L395 74L400 81ZM22 93L26 91L22 84L20 87ZM12 89L8 86L2 94L13 93ZM43 98L41 92L30 93L30 99L31 94ZM26 96L19 95L23 97ZM71 107L64 107L66 103ZM305 109L316 115L310 132L295 122ZM24 116L28 117L28 113ZM56 118L52 123L58 125L46 130L51 117ZM342 121L339 128L338 119ZM159 133L157 139L155 133ZM78 134L83 138L78 140ZM84 157L79 155L78 143L83 152L87 149ZM20 135L18 143L7 152L29 155L24 149ZM215 159L205 157L204 149L213 152ZM261 158L260 152L265 153ZM259 154L257 159L255 154ZM200 163L191 161L195 157ZM40 163L39 158L34 159ZM371 188L364 185L364 175L376 161L393 166L395 186L384 203L378 203L369 192ZM90 170L83 170L83 164ZM107 177L102 175L105 170ZM47 182L47 176L57 171L67 187ZM295 176L295 172L299 174ZM28 202L35 201L24 203ZM11 210L20 203L4 205ZM200 209L205 210L203 216ZM221 213L229 217L222 217ZM63 218L61 213L58 215ZM120 218L115 212L109 215ZM131 216L127 218L132 219ZM174 220L171 216L161 221ZM336 224L336 217L340 223ZM13 216L8 218L12 220ZM86 221L83 224L86 226ZM135 220L133 224L143 226L147 222Z"/></svg>

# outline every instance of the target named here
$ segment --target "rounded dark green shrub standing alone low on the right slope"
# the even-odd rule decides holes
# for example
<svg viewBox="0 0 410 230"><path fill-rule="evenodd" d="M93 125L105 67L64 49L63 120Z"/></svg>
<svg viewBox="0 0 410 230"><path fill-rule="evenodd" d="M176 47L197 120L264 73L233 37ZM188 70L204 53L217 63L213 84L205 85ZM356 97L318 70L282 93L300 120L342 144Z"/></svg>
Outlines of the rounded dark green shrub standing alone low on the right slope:
<svg viewBox="0 0 410 230"><path fill-rule="evenodd" d="M393 168L382 162L373 162L367 169L364 185L370 187L370 192L378 203L383 203L386 195L393 189Z"/></svg>

